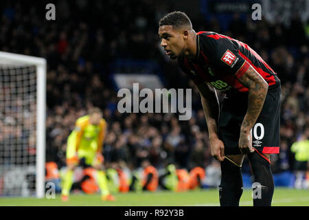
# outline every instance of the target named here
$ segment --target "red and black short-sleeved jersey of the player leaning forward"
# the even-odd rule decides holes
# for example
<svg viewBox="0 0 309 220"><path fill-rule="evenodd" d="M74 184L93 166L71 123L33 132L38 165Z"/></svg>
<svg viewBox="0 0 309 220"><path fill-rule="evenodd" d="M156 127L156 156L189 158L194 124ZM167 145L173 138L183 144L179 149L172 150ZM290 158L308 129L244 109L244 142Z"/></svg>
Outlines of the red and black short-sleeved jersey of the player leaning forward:
<svg viewBox="0 0 309 220"><path fill-rule="evenodd" d="M271 88L279 84L277 74L263 59L249 47L229 36L215 32L198 32L196 36L196 58L178 58L179 65L194 83L207 83L224 91L227 96L247 93L240 78L253 67Z"/></svg>

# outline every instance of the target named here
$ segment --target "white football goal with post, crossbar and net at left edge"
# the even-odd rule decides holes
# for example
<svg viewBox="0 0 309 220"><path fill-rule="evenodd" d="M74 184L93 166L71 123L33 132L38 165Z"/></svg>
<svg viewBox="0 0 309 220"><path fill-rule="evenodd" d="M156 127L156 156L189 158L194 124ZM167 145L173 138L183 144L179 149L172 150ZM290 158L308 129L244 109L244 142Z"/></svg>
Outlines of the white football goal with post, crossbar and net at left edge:
<svg viewBox="0 0 309 220"><path fill-rule="evenodd" d="M46 60L0 52L0 197L44 197Z"/></svg>

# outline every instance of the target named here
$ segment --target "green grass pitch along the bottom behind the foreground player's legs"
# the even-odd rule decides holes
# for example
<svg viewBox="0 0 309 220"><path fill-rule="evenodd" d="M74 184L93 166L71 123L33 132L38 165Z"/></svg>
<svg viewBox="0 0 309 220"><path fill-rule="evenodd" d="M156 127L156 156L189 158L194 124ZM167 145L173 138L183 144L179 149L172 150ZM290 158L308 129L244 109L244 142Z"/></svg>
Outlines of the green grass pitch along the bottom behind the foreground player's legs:
<svg viewBox="0 0 309 220"><path fill-rule="evenodd" d="M117 193L116 201L101 201L100 195L71 195L63 202L56 199L3 198L0 206L219 206L218 190L188 192L128 192ZM240 206L252 206L252 191L245 189ZM309 190L275 188L273 206L309 206Z"/></svg>

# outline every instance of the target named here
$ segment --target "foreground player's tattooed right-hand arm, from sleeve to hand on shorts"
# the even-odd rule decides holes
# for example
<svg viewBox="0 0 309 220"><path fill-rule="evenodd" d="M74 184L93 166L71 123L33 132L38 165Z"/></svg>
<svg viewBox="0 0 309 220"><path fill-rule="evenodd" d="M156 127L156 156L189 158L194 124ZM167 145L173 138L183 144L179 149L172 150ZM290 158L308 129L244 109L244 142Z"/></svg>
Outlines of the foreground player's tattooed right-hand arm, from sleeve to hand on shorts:
<svg viewBox="0 0 309 220"><path fill-rule="evenodd" d="M260 74L258 74L258 72L256 72L251 66L238 80L242 83L242 85L244 85L244 87L249 89L248 109L246 115L244 116L244 120L242 121L239 139L240 151L242 154L245 154L254 151L252 148L252 137L250 130L262 111L268 90L268 84L264 78L262 78L262 76L260 76Z"/></svg>

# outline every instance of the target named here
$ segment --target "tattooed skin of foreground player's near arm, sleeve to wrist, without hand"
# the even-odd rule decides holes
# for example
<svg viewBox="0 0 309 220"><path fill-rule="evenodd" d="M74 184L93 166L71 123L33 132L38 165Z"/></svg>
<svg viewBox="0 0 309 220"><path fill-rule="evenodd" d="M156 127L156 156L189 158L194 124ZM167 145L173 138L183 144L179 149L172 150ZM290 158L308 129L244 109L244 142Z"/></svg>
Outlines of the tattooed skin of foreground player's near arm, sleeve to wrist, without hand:
<svg viewBox="0 0 309 220"><path fill-rule="evenodd" d="M266 98L268 85L265 80L255 72L253 67L249 67L247 72L239 78L240 83L249 89L248 109L242 122L242 129L251 129L255 124Z"/></svg>

